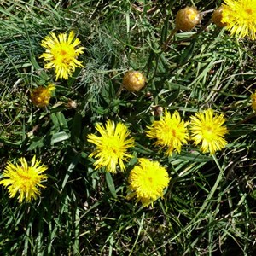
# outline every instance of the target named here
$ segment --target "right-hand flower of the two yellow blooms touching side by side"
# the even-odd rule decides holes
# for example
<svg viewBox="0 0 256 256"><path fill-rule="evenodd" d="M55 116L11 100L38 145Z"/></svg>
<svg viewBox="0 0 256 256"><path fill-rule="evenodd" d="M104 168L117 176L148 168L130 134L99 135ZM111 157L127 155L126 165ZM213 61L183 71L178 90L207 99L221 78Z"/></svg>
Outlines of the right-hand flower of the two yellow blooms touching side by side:
<svg viewBox="0 0 256 256"><path fill-rule="evenodd" d="M207 109L200 113L195 113L191 117L190 131L192 131L192 140L195 145L201 143L201 151L215 154L227 144L224 135L228 133L224 126L224 114L214 115L213 110Z"/></svg>

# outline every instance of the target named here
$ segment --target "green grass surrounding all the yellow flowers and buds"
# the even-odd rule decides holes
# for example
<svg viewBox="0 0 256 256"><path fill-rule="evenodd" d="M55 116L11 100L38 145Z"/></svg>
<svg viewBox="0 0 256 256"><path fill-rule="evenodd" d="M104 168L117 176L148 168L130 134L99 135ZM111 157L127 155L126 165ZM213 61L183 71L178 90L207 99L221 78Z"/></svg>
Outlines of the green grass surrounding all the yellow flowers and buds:
<svg viewBox="0 0 256 256"><path fill-rule="evenodd" d="M255 44L214 25L177 32L177 10L221 1L20 1L0 3L0 172L36 154L49 167L38 201L0 196L1 255L253 255L256 211ZM207 13L202 25L211 18ZM49 107L30 90L52 80L39 59L49 32L74 30L84 68L56 83ZM194 36L193 38L190 38ZM117 95L129 69L147 75L138 93ZM68 101L77 108L68 108ZM224 113L228 145L216 156L192 143L166 157L145 138L154 106L184 119L200 109ZM127 172L95 171L86 135L107 119L129 125L137 140ZM159 160L172 180L154 207L127 201L137 158Z"/></svg>

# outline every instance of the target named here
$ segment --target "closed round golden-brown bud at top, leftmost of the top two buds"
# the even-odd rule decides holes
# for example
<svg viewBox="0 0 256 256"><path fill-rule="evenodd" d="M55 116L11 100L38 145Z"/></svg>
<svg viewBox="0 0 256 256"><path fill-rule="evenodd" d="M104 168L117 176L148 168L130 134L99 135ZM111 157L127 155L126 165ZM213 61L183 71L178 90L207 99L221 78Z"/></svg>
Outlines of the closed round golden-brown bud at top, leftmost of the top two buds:
<svg viewBox="0 0 256 256"><path fill-rule="evenodd" d="M194 7L180 9L176 15L176 29L189 31L201 22L201 15Z"/></svg>

